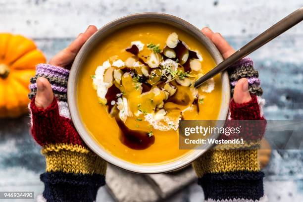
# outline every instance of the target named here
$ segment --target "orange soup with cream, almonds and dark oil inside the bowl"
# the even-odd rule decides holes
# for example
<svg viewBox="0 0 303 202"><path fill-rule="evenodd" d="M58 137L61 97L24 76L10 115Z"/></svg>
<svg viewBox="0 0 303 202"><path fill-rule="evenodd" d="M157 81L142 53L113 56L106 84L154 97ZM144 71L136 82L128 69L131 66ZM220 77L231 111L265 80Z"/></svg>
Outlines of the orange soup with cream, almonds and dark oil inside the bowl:
<svg viewBox="0 0 303 202"><path fill-rule="evenodd" d="M220 75L193 83L215 66L182 30L160 23L129 26L104 39L84 63L77 99L91 136L112 155L141 165L179 159L178 121L217 119Z"/></svg>

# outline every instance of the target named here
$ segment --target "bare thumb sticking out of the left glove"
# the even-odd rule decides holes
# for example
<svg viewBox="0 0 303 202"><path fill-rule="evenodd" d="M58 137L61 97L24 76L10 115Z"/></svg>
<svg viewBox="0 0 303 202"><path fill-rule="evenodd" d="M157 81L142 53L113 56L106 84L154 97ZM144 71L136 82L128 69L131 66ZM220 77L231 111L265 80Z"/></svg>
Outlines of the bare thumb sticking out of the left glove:
<svg viewBox="0 0 303 202"><path fill-rule="evenodd" d="M43 77L37 78L37 95L35 104L38 108L47 108L53 101L53 93L50 82Z"/></svg>

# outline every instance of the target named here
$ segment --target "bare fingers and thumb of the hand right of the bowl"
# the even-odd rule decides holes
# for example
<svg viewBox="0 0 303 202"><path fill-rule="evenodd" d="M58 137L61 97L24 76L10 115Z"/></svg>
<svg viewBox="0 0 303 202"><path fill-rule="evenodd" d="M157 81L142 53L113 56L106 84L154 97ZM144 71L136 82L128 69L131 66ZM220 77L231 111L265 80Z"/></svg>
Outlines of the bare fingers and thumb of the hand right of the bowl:
<svg viewBox="0 0 303 202"><path fill-rule="evenodd" d="M203 34L208 37L214 45L221 52L224 59L232 55L235 50L228 44L228 42L222 37L220 33L214 33L208 27L202 29ZM233 99L236 103L245 103L252 100L251 94L249 92L249 84L246 78L240 79L234 90Z"/></svg>

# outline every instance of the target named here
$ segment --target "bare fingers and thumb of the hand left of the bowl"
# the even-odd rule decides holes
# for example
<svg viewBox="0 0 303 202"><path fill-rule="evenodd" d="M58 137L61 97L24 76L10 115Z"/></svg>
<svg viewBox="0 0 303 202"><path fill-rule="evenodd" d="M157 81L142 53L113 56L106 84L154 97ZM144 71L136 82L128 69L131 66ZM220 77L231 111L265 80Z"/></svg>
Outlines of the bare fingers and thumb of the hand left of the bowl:
<svg viewBox="0 0 303 202"><path fill-rule="evenodd" d="M84 33L79 36L65 49L58 52L53 58L50 59L49 64L66 69L70 69L78 51L83 44L95 33L97 27L90 25ZM47 108L53 101L53 93L51 90L50 82L43 77L37 79L37 95L35 104L38 108Z"/></svg>

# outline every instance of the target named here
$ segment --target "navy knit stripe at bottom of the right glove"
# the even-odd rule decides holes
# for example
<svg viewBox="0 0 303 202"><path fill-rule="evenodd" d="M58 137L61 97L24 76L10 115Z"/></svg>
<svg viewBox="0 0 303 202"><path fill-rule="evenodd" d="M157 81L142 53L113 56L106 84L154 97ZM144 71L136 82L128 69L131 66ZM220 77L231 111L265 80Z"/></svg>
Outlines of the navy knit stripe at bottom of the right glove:
<svg viewBox="0 0 303 202"><path fill-rule="evenodd" d="M205 174L199 178L205 200L259 200L264 195L263 172L235 171Z"/></svg>

